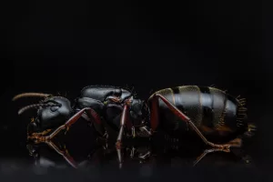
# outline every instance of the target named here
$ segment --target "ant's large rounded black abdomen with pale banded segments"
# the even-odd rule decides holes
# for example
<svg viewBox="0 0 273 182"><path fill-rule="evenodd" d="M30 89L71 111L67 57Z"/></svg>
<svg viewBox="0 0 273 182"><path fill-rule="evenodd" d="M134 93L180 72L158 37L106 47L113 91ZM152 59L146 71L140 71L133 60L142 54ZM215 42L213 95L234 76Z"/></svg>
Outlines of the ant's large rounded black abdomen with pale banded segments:
<svg viewBox="0 0 273 182"><path fill-rule="evenodd" d="M246 126L244 100L227 95L224 91L207 86L177 86L156 92L165 96L196 124L205 135L230 135ZM159 99L161 122L173 126L176 119ZM178 127L178 126L177 126Z"/></svg>

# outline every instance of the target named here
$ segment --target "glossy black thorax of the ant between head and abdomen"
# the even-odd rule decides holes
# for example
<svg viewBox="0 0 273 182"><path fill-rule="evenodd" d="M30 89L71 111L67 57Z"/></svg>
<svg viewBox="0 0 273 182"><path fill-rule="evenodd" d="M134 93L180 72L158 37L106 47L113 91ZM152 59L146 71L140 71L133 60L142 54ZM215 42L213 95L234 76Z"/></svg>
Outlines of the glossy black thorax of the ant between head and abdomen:
<svg viewBox="0 0 273 182"><path fill-rule="evenodd" d="M147 117L146 103L133 96L125 88L117 86L86 86L76 98L76 109L93 108L106 120L106 124L118 131L124 100L132 98L127 126L139 126ZM116 102L113 99L118 99Z"/></svg>

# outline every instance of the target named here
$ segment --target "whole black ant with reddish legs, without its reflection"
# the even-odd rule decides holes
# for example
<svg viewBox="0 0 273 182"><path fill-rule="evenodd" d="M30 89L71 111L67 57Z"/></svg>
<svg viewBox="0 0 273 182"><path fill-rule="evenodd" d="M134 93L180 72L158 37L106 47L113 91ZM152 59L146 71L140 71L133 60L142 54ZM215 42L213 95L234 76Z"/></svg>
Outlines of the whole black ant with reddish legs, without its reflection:
<svg viewBox="0 0 273 182"><path fill-rule="evenodd" d="M24 93L14 100L24 96L45 98L40 104L25 106L19 111L22 114L29 108L38 108L37 117L28 126L29 139L54 147L51 139L83 117L95 126L100 137L109 140L113 137L108 137L109 132L117 135L120 163L124 136L151 138L157 132L165 132L179 137L194 133L212 147L197 158L197 164L207 153L230 152L231 147L241 147L242 136L251 136L255 130L246 120L245 99L214 87L166 88L154 93L146 102L121 87L86 86L74 106L65 97L41 93Z"/></svg>

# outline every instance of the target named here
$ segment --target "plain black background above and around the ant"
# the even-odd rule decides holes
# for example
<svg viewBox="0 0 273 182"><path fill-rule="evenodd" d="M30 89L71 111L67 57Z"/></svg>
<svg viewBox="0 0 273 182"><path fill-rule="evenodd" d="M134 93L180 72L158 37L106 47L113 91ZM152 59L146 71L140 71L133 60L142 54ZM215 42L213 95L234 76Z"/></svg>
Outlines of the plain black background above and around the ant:
<svg viewBox="0 0 273 182"><path fill-rule="evenodd" d="M73 99L84 86L128 85L147 98L170 86L214 85L248 99L248 118L258 125L249 152L263 171L270 167L272 16L267 3L8 1L1 9L3 159L26 154L28 117L16 112L28 102L12 103L15 94L60 92Z"/></svg>

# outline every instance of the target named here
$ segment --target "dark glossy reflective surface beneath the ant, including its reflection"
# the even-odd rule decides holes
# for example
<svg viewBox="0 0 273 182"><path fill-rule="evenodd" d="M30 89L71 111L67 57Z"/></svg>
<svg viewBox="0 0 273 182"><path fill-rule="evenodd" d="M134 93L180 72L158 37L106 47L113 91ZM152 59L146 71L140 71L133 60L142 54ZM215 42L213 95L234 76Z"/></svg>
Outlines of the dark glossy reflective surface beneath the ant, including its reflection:
<svg viewBox="0 0 273 182"><path fill-rule="evenodd" d="M14 112L13 118L15 119L3 125L1 130L3 140L0 170L3 179L18 180L27 177L30 181L90 181L113 180L121 177L126 181L134 181L151 177L158 180L164 177L180 177L194 180L228 181L270 178L270 158L260 155L267 154L264 151L268 146L261 147L261 142L258 142L258 138L261 138L259 133L252 141L245 143L243 150L208 154L197 163L196 167L192 167L194 161L206 149L202 142L189 142L188 138L185 138L179 142L155 140L157 143L154 142L153 145L147 142L141 145L128 144L122 150L124 162L120 168L116 148L111 145L107 150L103 147L96 147L96 135L92 132L92 128L86 122L76 122L66 135L60 133L54 141L56 146L62 149L66 146L69 155L78 165L76 169L47 145L35 147L36 158L35 155L30 156L27 149L29 143L25 141L25 138L28 118L33 114L29 113L29 116L26 115L23 118L15 114ZM135 157L131 158L133 147L136 147L138 151L136 150ZM147 154L149 150L151 156L147 157L147 160L139 158Z"/></svg>

